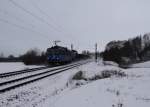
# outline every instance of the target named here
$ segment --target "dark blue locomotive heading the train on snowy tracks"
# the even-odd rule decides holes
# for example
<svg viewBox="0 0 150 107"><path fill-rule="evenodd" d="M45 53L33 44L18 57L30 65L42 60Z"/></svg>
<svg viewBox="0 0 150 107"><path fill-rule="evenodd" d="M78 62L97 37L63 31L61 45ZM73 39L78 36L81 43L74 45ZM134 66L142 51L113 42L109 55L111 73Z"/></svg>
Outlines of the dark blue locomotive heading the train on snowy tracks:
<svg viewBox="0 0 150 107"><path fill-rule="evenodd" d="M50 64L65 64L76 58L77 51L56 45L47 49L46 56Z"/></svg>

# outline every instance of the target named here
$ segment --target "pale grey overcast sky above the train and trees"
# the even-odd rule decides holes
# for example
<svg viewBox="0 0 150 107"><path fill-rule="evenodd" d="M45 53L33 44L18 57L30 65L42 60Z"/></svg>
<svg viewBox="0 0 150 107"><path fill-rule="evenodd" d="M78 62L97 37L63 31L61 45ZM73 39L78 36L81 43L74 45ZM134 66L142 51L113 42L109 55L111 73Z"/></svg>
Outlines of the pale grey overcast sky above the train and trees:
<svg viewBox="0 0 150 107"><path fill-rule="evenodd" d="M111 40L150 32L150 0L0 0L0 53L60 45L101 51Z"/></svg>

